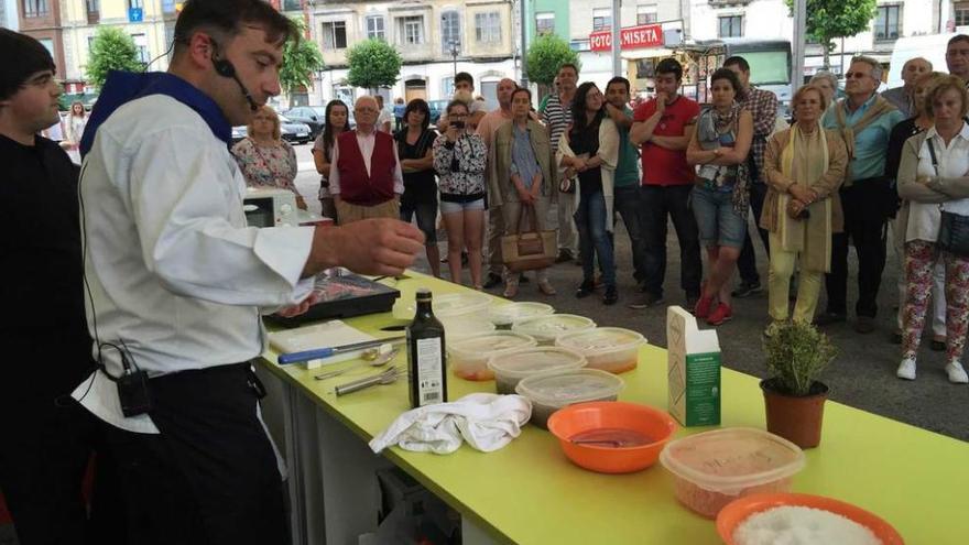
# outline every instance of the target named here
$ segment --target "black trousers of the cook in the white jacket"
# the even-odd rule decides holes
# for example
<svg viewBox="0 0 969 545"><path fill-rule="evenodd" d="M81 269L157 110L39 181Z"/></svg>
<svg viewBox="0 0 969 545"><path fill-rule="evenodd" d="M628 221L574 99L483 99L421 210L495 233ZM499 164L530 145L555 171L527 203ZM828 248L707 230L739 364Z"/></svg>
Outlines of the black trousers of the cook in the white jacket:
<svg viewBox="0 0 969 545"><path fill-rule="evenodd" d="M288 542L275 454L248 363L150 381L160 435L105 425L131 545Z"/></svg>

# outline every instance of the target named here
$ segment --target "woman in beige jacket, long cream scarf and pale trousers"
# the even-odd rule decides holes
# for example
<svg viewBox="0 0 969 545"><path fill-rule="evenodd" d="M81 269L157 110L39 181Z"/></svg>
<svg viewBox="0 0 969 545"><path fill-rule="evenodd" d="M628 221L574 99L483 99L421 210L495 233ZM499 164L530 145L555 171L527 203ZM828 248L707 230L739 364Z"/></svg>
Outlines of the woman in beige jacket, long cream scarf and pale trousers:
<svg viewBox="0 0 969 545"><path fill-rule="evenodd" d="M827 97L816 85L805 85L791 103L795 123L775 133L764 152L764 177L770 188L761 227L771 233L772 326L788 317L787 290L798 260L794 319L810 323L814 318L821 274L831 268L831 233L843 229L838 187L845 179L848 152L838 131L820 126Z"/></svg>

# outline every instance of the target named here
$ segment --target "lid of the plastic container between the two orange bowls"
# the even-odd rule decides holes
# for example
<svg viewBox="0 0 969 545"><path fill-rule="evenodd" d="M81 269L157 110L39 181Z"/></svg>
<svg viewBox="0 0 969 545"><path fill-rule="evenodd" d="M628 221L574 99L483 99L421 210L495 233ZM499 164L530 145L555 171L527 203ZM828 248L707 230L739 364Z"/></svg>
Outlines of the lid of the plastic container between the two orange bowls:
<svg viewBox="0 0 969 545"><path fill-rule="evenodd" d="M733 495L801 471L804 451L763 429L732 427L674 440L660 461L700 488Z"/></svg>

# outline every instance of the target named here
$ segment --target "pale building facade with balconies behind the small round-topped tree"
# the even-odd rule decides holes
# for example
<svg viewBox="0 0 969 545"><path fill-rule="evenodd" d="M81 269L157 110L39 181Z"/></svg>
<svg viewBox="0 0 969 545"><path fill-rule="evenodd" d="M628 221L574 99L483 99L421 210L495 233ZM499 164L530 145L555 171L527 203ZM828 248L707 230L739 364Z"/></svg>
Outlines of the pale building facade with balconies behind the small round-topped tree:
<svg viewBox="0 0 969 545"><path fill-rule="evenodd" d="M347 53L363 40L377 39L394 45L403 57L400 80L381 90L389 101L447 99L454 75L468 72L477 92L497 107L498 81L519 79L513 13L505 0L317 0L311 8L311 37L327 66L316 75L318 101L352 103L369 92L347 83Z"/></svg>

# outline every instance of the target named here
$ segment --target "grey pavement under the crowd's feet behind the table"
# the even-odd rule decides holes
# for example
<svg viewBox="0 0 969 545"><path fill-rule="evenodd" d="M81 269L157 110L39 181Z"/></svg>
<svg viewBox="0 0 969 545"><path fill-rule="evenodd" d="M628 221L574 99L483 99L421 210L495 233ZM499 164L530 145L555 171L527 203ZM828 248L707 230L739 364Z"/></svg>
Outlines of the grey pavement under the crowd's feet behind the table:
<svg viewBox="0 0 969 545"><path fill-rule="evenodd" d="M297 187L306 197L307 203L316 206L315 192L318 188L318 176L312 171L312 159L306 145L297 146L301 161L301 174ZM307 164L306 162L309 161ZM554 208L549 215L555 218ZM554 221L554 220L553 220ZM642 333L653 345L666 346L665 312L666 305L685 305L685 294L679 290L679 248L672 226L668 229L667 271L664 286L665 302L655 308L633 310L627 305L638 295L632 279L632 260L630 257L629 237L621 222L616 228L617 277L619 283L619 303L606 306L601 303L601 290L596 295L584 299L575 298L574 291L581 281L581 269L574 263L562 263L552 268L549 277L558 291L558 295L542 295L535 282L520 286L515 301L541 301L551 304L556 312L587 316L600 326L618 326ZM438 237L442 255L447 254L444 233ZM758 263L761 282L766 283L766 258L760 241L754 242L758 249ZM891 240L890 240L891 244ZM849 270L848 302L853 307L857 297L857 261L851 253ZM420 260L417 270L427 272L426 260ZM447 265L442 265L443 274L447 275ZM879 296L878 328L870 335L859 335L852 329L852 318L847 324L838 324L825 328L832 342L839 348L839 356L824 375L830 386L830 399L846 405L870 411L882 416L897 419L925 429L969 440L969 386L950 384L943 370L945 359L943 352L933 352L928 348L929 336L923 342L918 361L918 379L914 382L895 378L895 368L900 362L899 345L890 342L894 328L899 266L894 251L889 250L889 264L882 277ZM500 295L502 288L490 291ZM825 308L824 291L818 308ZM749 298L736 299L733 319L718 327L723 364L752 375L765 375L764 358L761 351L761 333L767 324L767 295L763 293ZM706 328L706 324L701 324ZM965 358L963 358L965 360ZM730 393L726 392L729 396Z"/></svg>

